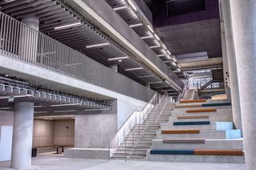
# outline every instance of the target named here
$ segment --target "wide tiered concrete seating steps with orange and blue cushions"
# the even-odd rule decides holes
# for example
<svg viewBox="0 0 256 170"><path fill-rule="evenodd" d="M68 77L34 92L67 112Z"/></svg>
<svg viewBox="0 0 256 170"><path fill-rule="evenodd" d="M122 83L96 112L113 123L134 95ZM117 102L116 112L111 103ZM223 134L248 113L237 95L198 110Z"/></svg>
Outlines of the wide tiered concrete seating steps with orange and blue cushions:
<svg viewBox="0 0 256 170"><path fill-rule="evenodd" d="M177 103L161 123L146 160L244 163L241 131L234 129L228 100Z"/></svg>

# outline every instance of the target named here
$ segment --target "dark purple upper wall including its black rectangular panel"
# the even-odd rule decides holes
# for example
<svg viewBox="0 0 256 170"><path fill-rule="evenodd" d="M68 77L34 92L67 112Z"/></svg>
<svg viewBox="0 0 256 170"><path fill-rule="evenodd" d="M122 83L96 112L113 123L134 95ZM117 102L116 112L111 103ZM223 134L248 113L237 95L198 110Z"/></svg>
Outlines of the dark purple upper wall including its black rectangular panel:
<svg viewBox="0 0 256 170"><path fill-rule="evenodd" d="M153 26L173 26L219 18L217 0L152 0Z"/></svg>

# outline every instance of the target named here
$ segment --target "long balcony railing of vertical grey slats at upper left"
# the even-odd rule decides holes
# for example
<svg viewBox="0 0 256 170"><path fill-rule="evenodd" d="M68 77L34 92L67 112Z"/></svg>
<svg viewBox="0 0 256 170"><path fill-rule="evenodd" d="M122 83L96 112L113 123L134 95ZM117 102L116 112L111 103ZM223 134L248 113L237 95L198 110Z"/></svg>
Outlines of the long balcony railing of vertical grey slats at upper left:
<svg viewBox="0 0 256 170"><path fill-rule="evenodd" d="M2 12L0 12L0 55L82 79L137 99L148 100L153 95L152 91L140 83L112 71L111 68Z"/></svg>

